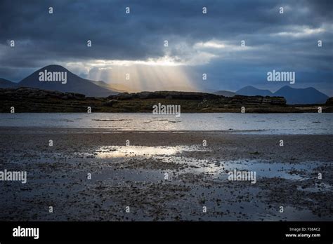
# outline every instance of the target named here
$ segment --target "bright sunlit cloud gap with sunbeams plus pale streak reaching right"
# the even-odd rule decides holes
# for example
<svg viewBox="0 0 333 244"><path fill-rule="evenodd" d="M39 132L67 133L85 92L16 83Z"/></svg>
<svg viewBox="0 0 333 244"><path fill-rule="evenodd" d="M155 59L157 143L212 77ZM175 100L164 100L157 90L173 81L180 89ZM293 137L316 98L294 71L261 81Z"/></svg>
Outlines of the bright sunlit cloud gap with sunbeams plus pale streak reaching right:
<svg viewBox="0 0 333 244"><path fill-rule="evenodd" d="M89 60L87 62L67 62L63 64L77 74L86 74L87 79L105 81L109 84L122 84L127 90L199 90L195 83L193 69L207 65L212 59L226 53L247 50L248 47L211 40L189 45L180 42L174 50L167 49L163 57L146 60ZM173 55L177 53L177 55ZM191 74L189 72L191 71ZM126 75L129 79L126 79ZM196 76L195 76L196 77ZM192 79L191 79L192 78Z"/></svg>

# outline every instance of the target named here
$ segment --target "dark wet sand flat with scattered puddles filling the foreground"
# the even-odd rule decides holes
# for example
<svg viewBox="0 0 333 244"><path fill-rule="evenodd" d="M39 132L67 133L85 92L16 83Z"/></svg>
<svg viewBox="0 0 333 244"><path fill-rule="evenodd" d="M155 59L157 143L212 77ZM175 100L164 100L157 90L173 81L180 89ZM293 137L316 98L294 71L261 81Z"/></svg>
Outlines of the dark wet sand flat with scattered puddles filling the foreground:
<svg viewBox="0 0 333 244"><path fill-rule="evenodd" d="M0 220L333 220L333 135L46 128L0 135L0 170L27 171L26 184L0 182ZM235 169L255 171L256 183L228 180Z"/></svg>

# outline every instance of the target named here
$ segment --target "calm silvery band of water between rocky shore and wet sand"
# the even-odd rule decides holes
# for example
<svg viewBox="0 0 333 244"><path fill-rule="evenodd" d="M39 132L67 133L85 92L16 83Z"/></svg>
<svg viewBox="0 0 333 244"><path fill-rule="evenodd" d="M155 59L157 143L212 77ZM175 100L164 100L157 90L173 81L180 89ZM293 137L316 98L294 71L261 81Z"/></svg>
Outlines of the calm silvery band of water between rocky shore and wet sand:
<svg viewBox="0 0 333 244"><path fill-rule="evenodd" d="M0 127L117 130L219 130L252 134L333 134L333 114L181 114L180 118L124 113L0 114Z"/></svg>

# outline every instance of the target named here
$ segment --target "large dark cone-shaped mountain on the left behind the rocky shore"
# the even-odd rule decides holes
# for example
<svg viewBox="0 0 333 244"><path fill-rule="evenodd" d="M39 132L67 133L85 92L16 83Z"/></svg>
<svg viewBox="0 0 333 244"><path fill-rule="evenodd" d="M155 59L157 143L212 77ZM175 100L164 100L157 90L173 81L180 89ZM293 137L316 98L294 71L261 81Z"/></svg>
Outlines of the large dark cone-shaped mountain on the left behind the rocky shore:
<svg viewBox="0 0 333 244"><path fill-rule="evenodd" d="M47 70L47 72L67 72L67 82L62 83L60 81L39 81L39 72L44 72L45 70ZM83 79L60 65L48 65L37 70L37 72L30 74L30 76L27 76L25 79L22 79L22 81L18 83L18 86L39 88L44 90L58 90L61 92L81 93L88 97L107 97L117 93L114 90L107 89L103 86L98 86L94 82L96 81Z"/></svg>

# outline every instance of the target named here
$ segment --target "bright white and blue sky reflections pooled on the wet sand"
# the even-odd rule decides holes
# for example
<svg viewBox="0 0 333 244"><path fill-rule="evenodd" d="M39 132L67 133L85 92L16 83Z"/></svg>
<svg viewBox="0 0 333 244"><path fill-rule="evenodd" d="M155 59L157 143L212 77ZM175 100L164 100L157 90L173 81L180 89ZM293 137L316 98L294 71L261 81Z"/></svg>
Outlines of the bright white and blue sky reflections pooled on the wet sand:
<svg viewBox="0 0 333 244"><path fill-rule="evenodd" d="M209 174L213 179L228 180L228 172L233 170L246 170L256 172L257 178L282 178L294 181L308 180L315 168L318 168L320 162L304 163L280 163L258 160L236 160L236 161L218 161L216 159L200 159L184 156L185 151L209 151L200 146L175 146L175 147L143 147L143 146L110 146L98 147L94 156L96 158L134 158L134 160L145 160L146 163L162 162L165 164L176 163L185 167L180 167L179 173ZM126 161L124 161L125 163ZM322 189L322 187L318 187ZM329 189L331 186L325 186ZM316 191L316 189L307 189Z"/></svg>

